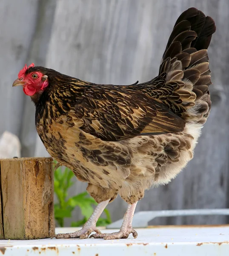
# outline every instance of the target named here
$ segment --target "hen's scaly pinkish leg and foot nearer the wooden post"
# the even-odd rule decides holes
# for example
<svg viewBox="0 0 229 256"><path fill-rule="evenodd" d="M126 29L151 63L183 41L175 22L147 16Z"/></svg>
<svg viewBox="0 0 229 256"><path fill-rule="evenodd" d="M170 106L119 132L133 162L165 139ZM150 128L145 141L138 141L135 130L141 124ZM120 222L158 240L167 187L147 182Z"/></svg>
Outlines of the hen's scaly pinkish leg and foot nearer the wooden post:
<svg viewBox="0 0 229 256"><path fill-rule="evenodd" d="M60 239L60 238L88 238L89 235L94 231L96 233L101 233L100 230L96 228L96 222L100 215L102 214L103 210L108 205L110 199L101 202L97 205L97 207L94 209L94 212L92 213L92 216L86 221L86 223L83 225L83 228L81 230L78 230L74 233L66 233L66 234L57 234L53 236L52 238Z"/></svg>

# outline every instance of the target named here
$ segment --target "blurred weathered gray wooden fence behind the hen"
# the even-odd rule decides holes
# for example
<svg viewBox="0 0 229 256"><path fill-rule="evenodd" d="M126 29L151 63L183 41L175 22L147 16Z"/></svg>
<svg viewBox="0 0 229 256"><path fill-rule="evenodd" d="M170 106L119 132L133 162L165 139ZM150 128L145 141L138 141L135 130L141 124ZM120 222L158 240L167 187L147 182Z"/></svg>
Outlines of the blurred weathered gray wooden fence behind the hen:
<svg viewBox="0 0 229 256"><path fill-rule="evenodd" d="M177 17L196 7L215 20L209 47L212 111L195 157L175 180L146 192L137 210L229 208L228 0L1 0L0 135L17 135L23 157L48 156L34 125L35 108L12 82L24 64L45 66L86 81L132 84L158 73ZM85 191L75 180L70 195ZM126 203L108 206L112 221ZM66 221L77 221L79 209ZM221 224L225 216L157 218L151 224Z"/></svg>

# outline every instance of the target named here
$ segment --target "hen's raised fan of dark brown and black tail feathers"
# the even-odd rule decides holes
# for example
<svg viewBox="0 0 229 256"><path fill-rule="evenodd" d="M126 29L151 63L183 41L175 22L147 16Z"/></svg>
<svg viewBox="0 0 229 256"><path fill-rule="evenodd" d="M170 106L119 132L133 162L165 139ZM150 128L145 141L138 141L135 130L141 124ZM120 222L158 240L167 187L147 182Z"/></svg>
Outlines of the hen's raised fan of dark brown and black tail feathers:
<svg viewBox="0 0 229 256"><path fill-rule="evenodd" d="M189 8L177 19L163 54L159 75L166 72L165 88L174 88L165 103L186 121L203 124L209 115L207 48L214 32L211 17Z"/></svg>

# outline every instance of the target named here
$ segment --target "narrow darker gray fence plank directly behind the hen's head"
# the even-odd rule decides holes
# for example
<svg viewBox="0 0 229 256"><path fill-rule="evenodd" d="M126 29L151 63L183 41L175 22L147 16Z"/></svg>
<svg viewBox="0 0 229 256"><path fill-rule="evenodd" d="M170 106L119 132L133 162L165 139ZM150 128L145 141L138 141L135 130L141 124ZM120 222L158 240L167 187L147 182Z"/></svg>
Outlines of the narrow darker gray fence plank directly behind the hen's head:
<svg viewBox="0 0 229 256"><path fill-rule="evenodd" d="M39 0L35 33L31 38L31 44L26 58L28 64L34 62L36 66L45 66L49 40L52 33L55 7L56 0ZM20 131L22 156L49 156L43 145L41 145L43 147L39 147L41 141L40 139L38 140L34 116L35 107L32 104L30 97L24 95L23 119ZM38 147L39 150L37 150Z"/></svg>

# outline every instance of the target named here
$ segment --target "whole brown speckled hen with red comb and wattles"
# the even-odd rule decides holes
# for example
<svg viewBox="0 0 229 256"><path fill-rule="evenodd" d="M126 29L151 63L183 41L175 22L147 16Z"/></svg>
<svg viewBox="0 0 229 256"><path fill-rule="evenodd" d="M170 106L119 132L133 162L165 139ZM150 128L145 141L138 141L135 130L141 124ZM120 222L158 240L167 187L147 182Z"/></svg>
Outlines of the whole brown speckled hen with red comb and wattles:
<svg viewBox="0 0 229 256"><path fill-rule="evenodd" d="M105 85L31 64L22 85L36 106L35 123L49 154L88 183L98 205L83 228L59 238L134 238L137 201L152 186L169 183L193 157L209 116L211 76L207 48L215 23L190 8L175 23L151 81ZM101 233L96 222L120 195L129 205L119 232Z"/></svg>

